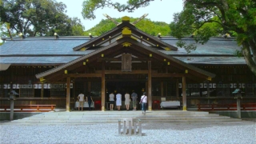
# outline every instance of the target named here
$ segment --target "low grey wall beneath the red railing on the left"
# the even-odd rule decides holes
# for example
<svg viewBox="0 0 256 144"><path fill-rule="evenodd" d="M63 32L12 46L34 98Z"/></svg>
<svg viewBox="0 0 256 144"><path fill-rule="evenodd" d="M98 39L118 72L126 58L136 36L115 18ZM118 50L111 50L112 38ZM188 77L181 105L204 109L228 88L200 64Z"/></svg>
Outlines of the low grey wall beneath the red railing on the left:
<svg viewBox="0 0 256 144"><path fill-rule="evenodd" d="M38 112L14 112L14 120L27 118L36 114L42 114ZM10 120L10 112L1 112L0 113L0 120Z"/></svg>

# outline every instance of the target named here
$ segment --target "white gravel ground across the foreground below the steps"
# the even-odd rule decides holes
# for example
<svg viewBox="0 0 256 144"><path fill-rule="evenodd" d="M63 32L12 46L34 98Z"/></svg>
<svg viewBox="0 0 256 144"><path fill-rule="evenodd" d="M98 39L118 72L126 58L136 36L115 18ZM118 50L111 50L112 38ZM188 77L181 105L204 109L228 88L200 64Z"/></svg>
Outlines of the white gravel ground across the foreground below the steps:
<svg viewBox="0 0 256 144"><path fill-rule="evenodd" d="M171 143L171 144L255 144L255 122L144 123L142 136L118 135L117 124L2 124L0 143Z"/></svg>

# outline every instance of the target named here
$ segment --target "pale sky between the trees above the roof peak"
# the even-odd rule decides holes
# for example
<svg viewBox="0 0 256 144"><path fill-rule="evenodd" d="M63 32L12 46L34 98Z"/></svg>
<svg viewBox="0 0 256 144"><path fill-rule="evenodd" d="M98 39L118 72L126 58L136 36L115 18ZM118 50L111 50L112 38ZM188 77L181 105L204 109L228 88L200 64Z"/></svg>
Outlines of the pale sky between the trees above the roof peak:
<svg viewBox="0 0 256 144"><path fill-rule="evenodd" d="M149 14L146 18L149 18L154 22L166 22L170 23L173 21L173 14L182 11L183 2L182 0L154 0L150 2L150 6L139 8L133 13L118 12L114 8L100 8L94 11L96 18L94 20L88 20L82 18L82 2L85 0L56 0L57 2L63 2L66 4L66 14L70 17L78 17L86 30L97 25L102 19L107 19L103 14L108 14L111 18L122 18L123 16L139 18L143 14ZM120 2L125 4L127 0L112 0L113 2Z"/></svg>

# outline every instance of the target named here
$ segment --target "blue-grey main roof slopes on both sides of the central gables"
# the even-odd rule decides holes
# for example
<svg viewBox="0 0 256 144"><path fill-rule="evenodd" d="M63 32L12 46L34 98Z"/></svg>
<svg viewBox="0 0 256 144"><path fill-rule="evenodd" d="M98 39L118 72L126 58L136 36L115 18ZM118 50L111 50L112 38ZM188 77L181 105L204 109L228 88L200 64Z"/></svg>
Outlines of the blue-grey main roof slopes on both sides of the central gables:
<svg viewBox="0 0 256 144"><path fill-rule="evenodd" d="M0 46L0 63L12 65L54 65L71 62L83 55L90 54L95 49L74 51L75 46L89 42L88 37L34 37L34 38L7 38ZM176 46L177 38L162 37L160 39L172 46ZM188 43L194 42L193 38L184 39ZM174 56L183 62L190 64L207 65L246 65L244 58L234 55L236 50L241 50L234 38L210 38L204 45L196 44L197 50L188 54L186 50L179 48L174 50L159 50L164 54ZM104 47L104 46L103 46Z"/></svg>

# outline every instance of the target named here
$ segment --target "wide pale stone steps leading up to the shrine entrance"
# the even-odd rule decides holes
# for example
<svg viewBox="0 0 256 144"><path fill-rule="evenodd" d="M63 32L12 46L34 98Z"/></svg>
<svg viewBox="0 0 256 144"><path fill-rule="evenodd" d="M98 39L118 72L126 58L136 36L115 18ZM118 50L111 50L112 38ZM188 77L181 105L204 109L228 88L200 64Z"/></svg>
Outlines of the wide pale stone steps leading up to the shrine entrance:
<svg viewBox="0 0 256 144"><path fill-rule="evenodd" d="M28 118L14 120L12 123L52 123L52 124L79 124L79 123L117 123L123 118L138 118L142 122L240 122L241 119L209 114L201 111L75 111L75 112L48 112Z"/></svg>

